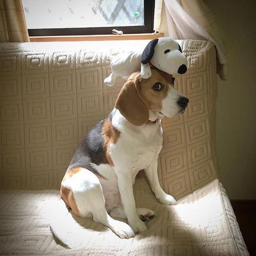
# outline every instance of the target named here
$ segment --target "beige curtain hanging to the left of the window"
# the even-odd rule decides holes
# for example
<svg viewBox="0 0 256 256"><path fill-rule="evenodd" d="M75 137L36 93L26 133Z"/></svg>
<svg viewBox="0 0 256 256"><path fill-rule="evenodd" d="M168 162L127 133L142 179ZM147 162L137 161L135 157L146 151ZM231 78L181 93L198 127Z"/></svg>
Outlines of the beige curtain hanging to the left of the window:
<svg viewBox="0 0 256 256"><path fill-rule="evenodd" d="M0 0L0 42L29 42L21 0Z"/></svg>

